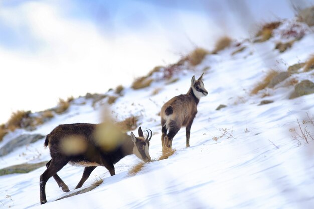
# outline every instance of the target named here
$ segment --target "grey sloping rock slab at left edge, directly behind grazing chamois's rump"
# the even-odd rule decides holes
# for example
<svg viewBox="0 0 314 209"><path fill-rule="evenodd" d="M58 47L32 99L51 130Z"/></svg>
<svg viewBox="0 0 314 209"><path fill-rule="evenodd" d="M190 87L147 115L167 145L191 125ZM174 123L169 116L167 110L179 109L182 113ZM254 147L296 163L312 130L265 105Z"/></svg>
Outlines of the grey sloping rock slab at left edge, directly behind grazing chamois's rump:
<svg viewBox="0 0 314 209"><path fill-rule="evenodd" d="M0 148L0 156L4 156L9 152L12 152L15 148L21 147L30 143L34 143L39 139L44 138L45 136L41 134L23 134L18 136L17 138L9 141L3 147Z"/></svg>

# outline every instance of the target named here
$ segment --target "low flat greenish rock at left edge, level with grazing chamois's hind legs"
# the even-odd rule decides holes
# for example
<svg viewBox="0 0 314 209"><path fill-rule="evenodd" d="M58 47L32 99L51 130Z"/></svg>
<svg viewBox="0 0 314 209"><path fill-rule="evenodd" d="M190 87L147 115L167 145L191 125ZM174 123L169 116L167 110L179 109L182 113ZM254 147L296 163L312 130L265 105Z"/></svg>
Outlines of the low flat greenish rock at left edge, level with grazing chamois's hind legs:
<svg viewBox="0 0 314 209"><path fill-rule="evenodd" d="M19 165L13 165L10 167L6 167L3 169L0 169L0 176L2 175L9 175L12 173L29 173L37 168L40 168L42 166L45 166L48 161L34 163L34 164L19 164Z"/></svg>

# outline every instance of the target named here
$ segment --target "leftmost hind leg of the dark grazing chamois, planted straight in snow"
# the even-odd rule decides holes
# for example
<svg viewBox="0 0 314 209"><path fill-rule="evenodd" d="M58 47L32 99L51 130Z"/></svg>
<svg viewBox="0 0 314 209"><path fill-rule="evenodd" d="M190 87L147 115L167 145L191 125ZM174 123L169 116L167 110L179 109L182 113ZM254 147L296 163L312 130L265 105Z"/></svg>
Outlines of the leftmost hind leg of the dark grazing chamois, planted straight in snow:
<svg viewBox="0 0 314 209"><path fill-rule="evenodd" d="M46 183L49 178L56 175L61 168L63 168L68 163L68 160L60 160L54 161L51 160L49 167L41 174L39 177L39 193L40 193L40 203L45 204L47 202L46 199Z"/></svg>

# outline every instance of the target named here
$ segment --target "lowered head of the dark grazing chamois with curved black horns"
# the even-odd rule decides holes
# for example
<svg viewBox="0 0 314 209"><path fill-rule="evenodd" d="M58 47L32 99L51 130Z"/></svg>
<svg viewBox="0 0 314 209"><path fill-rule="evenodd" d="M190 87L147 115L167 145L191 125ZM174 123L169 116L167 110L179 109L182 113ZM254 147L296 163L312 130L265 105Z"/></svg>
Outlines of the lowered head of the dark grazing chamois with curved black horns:
<svg viewBox="0 0 314 209"><path fill-rule="evenodd" d="M131 139L134 143L133 153L144 162L149 162L151 160L151 157L149 155L149 141L152 137L152 131L150 130L150 132L151 135L149 137L149 132L147 131L146 139L144 138L144 134L141 127L138 128L138 137L136 137L134 133L131 132Z"/></svg>

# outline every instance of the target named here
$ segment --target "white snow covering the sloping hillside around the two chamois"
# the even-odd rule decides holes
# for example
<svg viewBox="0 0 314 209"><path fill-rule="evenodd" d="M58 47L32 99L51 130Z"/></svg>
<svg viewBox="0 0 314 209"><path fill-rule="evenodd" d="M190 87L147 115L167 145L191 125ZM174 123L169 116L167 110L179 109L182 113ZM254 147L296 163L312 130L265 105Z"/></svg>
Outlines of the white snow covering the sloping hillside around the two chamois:
<svg viewBox="0 0 314 209"><path fill-rule="evenodd" d="M119 161L112 177L107 169L97 167L82 189L99 178L102 184L90 192L55 201L75 192L83 173L82 167L66 165L58 174L70 192L64 193L51 178L46 184L48 202L44 205L39 203L39 176L45 166L25 174L3 175L0 205L4 208L312 208L314 141L306 135L306 143L302 132L314 136L311 132L314 97L313 94L289 97L301 81L314 82L314 71L305 72L302 67L273 88L251 93L269 70L287 72L289 66L306 62L314 52L314 33L305 26L302 29L305 35L290 48L282 53L275 49L278 41L291 41L282 37L289 26L288 22L282 23L267 41L233 41L226 49L206 55L196 66L186 61L170 80L162 79L161 72L154 72L149 77L153 79L149 87L138 90L126 87L123 95L110 105L117 121L138 116L138 126L153 131L149 152L153 159L158 159L162 154L160 108L173 96L185 94L193 75L198 78L205 72L203 80L208 95L198 104L191 128L191 147L185 148L182 128L172 143L176 151L168 159L146 163L134 176L128 172L140 162L135 155ZM112 91L108 94L115 95ZM46 135L59 124L100 123L107 100L103 98L92 105L91 99L74 99L69 110L35 130L16 129L8 133L0 148L24 133ZM269 103L259 105L262 101ZM216 110L221 104L226 107ZM49 160L49 149L43 143L41 139L1 157L0 169Z"/></svg>

